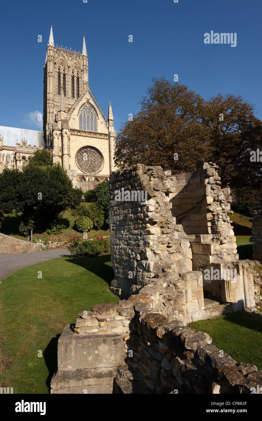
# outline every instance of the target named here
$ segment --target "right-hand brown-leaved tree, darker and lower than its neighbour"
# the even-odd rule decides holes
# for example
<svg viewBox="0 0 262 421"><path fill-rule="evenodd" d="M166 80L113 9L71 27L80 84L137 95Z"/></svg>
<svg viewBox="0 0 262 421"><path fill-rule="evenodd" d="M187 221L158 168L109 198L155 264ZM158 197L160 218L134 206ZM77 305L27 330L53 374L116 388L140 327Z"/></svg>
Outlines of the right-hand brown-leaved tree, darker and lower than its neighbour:
<svg viewBox="0 0 262 421"><path fill-rule="evenodd" d="M199 115L209 130L209 149L222 184L259 187L262 163L250 161L250 151L262 146L262 125L254 107L241 96L218 94L201 105Z"/></svg>

